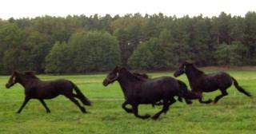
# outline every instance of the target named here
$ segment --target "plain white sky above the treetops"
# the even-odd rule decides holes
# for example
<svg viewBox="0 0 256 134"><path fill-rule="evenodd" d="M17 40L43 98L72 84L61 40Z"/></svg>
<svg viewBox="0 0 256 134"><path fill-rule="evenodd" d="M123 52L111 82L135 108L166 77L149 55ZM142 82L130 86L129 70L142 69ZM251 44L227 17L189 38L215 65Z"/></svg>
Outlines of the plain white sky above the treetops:
<svg viewBox="0 0 256 134"><path fill-rule="evenodd" d="M1 0L0 18L34 18L42 15L124 15L140 13L182 17L218 16L222 11L244 16L256 10L256 0Z"/></svg>

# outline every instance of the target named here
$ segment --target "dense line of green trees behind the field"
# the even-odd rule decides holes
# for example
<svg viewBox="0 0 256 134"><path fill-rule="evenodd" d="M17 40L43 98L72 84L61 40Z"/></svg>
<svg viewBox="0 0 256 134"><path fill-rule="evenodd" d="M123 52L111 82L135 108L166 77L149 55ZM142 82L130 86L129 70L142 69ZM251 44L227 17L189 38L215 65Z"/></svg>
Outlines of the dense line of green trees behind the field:
<svg viewBox="0 0 256 134"><path fill-rule="evenodd" d="M94 14L0 19L0 73L86 73L112 69L174 69L256 65L256 13L245 17Z"/></svg>

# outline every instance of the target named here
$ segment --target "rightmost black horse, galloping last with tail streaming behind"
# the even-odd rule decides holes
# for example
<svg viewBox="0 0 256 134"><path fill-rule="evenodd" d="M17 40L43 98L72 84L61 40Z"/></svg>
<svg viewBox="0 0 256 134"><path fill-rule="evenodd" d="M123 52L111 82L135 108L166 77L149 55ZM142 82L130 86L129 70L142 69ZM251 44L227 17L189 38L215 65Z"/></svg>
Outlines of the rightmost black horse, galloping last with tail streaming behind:
<svg viewBox="0 0 256 134"><path fill-rule="evenodd" d="M197 96L191 96L189 98L199 99L199 102L201 103L209 104L212 102L211 99L202 101L203 92L213 92L217 89L220 89L222 94L215 97L214 99L214 103L217 103L219 99L225 97L228 94L226 89L228 89L232 83L234 83L235 88L238 89L239 92L244 93L248 97L251 97L250 93L246 92L245 89L242 89L242 87L238 85L238 81L236 81L234 77L230 77L228 73L218 72L205 74L201 70L197 69L194 64L186 61L183 62L179 69L175 71L174 77L178 77L183 73L186 74L186 77L190 81L192 92L197 94Z"/></svg>

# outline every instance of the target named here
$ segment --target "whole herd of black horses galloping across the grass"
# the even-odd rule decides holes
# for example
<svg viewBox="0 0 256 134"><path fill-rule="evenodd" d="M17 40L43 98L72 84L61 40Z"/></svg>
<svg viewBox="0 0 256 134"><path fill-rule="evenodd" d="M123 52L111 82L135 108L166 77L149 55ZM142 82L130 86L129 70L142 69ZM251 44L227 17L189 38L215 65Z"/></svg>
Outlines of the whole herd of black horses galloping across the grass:
<svg viewBox="0 0 256 134"><path fill-rule="evenodd" d="M226 89L232 83L239 92L251 97L250 93L242 89L234 77L231 77L228 73L218 72L206 74L197 69L194 64L186 61L175 71L174 77L178 77L183 73L186 74L190 82L191 90L187 89L184 82L173 77L149 78L145 73L130 73L126 68L118 66L107 75L102 84L107 86L114 81L118 81L125 97L122 108L126 112L133 113L134 116L142 119L150 118L150 115L139 115L139 104L162 105L162 109L152 116L156 120L163 112L166 113L169 110L171 104L176 102L174 97L178 97L178 101L184 99L186 104L192 104L191 100L194 99L198 99L200 103L209 104L212 100L203 101L202 93L213 92L219 89L222 94L214 98L214 103L217 103L219 99L228 94ZM72 81L41 81L33 72L19 73L15 71L6 83L6 88L9 89L16 83L21 84L25 89L25 99L21 108L18 109L18 113L22 112L22 108L25 107L30 99L38 99L44 108L46 108L46 112L50 112L44 100L52 99L58 95L63 95L70 99L82 112L86 112L83 104L91 105L89 99L82 94L80 89ZM73 93L73 89L75 93ZM126 108L127 104L130 104L131 108Z"/></svg>

